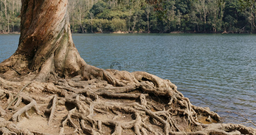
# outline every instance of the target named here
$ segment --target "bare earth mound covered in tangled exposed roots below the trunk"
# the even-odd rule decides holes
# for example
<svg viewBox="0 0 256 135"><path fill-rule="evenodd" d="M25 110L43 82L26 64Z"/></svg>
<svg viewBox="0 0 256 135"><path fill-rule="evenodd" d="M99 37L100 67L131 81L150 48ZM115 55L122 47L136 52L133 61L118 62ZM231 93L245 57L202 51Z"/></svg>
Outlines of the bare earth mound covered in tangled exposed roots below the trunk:
<svg viewBox="0 0 256 135"><path fill-rule="evenodd" d="M97 69L101 76L93 76L96 69L87 76L56 77L47 83L0 78L0 133L256 134L243 125L217 123L218 114L193 106L169 80L102 69Z"/></svg>

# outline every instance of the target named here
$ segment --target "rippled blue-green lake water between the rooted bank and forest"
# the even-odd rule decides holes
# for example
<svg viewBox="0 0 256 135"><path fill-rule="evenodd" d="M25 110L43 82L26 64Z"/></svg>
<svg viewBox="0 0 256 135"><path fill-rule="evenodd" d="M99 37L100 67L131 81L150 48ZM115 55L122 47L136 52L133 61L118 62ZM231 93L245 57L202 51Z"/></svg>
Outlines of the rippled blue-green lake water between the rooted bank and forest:
<svg viewBox="0 0 256 135"><path fill-rule="evenodd" d="M0 35L0 62L18 39ZM73 34L73 40L90 65L108 69L119 62L121 70L169 79L193 105L221 117L243 110L256 123L255 34Z"/></svg>

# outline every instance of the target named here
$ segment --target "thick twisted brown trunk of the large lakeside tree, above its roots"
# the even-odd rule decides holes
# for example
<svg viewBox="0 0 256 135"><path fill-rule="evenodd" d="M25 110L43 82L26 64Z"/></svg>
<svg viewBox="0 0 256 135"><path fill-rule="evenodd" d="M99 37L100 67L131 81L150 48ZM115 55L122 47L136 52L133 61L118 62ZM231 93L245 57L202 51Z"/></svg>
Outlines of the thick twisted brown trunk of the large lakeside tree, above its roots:
<svg viewBox="0 0 256 135"><path fill-rule="evenodd" d="M73 43L67 7L67 0L22 0L18 49L0 64L0 72L17 74L12 68L22 74L35 71L40 81L52 72L63 77L81 74L85 61Z"/></svg>

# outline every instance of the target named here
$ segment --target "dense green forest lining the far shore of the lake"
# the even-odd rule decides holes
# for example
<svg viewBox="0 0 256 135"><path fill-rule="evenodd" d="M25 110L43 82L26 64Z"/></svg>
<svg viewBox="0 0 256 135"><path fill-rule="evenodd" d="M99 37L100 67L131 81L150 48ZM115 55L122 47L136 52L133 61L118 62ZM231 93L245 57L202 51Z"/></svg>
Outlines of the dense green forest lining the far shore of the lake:
<svg viewBox="0 0 256 135"><path fill-rule="evenodd" d="M72 0L72 33L256 33L255 3L239 0L166 0L163 11L143 1ZM20 0L0 1L0 33L20 32Z"/></svg>

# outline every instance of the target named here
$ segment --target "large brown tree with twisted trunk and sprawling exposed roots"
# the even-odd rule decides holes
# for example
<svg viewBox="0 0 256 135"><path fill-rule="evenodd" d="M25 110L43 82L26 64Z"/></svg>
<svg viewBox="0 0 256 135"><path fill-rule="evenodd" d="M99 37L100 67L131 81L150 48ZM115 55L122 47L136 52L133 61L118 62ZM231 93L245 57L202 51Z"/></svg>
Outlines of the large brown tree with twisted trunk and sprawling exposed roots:
<svg viewBox="0 0 256 135"><path fill-rule="evenodd" d="M0 133L256 134L214 123L218 114L193 106L169 80L87 65L67 7L68 0L22 0L18 49L0 64Z"/></svg>

